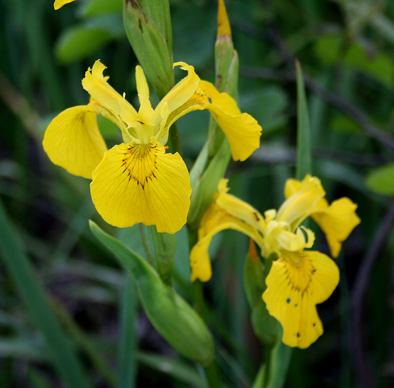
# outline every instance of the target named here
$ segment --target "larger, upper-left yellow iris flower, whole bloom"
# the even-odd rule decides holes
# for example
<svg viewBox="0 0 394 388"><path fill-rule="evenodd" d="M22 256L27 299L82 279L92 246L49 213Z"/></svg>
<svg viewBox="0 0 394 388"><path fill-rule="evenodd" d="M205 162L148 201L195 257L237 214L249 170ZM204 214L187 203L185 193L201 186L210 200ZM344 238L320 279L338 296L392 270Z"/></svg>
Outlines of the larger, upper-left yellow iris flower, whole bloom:
<svg viewBox="0 0 394 388"><path fill-rule="evenodd" d="M142 222L175 233L185 223L192 192L187 167L178 153L165 153L168 130L192 110L208 109L225 132L234 160L245 160L260 145L261 127L235 101L199 79L193 66L153 109L144 72L136 67L139 110L117 93L96 61L85 73L86 106L66 109L49 124L43 140L50 160L70 174L92 178L92 200L103 219L118 227ZM114 122L123 143L107 150L96 115Z"/></svg>

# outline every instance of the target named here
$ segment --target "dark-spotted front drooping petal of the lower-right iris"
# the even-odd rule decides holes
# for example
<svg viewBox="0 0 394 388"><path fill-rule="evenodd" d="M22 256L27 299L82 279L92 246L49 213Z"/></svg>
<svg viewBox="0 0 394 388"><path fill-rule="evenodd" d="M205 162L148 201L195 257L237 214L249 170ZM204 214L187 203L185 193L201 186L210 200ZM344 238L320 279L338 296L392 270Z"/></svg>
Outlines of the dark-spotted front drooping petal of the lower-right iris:
<svg viewBox="0 0 394 388"><path fill-rule="evenodd" d="M338 267L327 255L281 251L265 279L263 300L282 325L284 344L304 349L323 334L316 304L328 299L338 282Z"/></svg>

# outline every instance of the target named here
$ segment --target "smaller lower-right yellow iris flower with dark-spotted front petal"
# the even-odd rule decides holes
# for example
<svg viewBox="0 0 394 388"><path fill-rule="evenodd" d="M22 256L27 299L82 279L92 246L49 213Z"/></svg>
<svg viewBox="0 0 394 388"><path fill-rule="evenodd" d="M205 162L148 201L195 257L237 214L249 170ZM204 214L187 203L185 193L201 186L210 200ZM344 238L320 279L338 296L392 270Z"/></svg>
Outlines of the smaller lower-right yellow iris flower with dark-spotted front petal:
<svg viewBox="0 0 394 388"><path fill-rule="evenodd" d="M307 348L322 335L323 326L316 304L324 302L339 282L339 270L326 254L311 248L314 233L301 222L308 216L326 234L332 257L360 223L357 205L341 198L328 205L321 182L313 176L302 181L288 179L286 201L278 211L261 214L246 202L228 194L222 179L214 201L201 219L198 242L190 253L192 280L211 278L208 247L212 237L224 229L238 230L253 239L264 258L272 262L265 279L263 300L270 315L282 325L284 344Z"/></svg>

